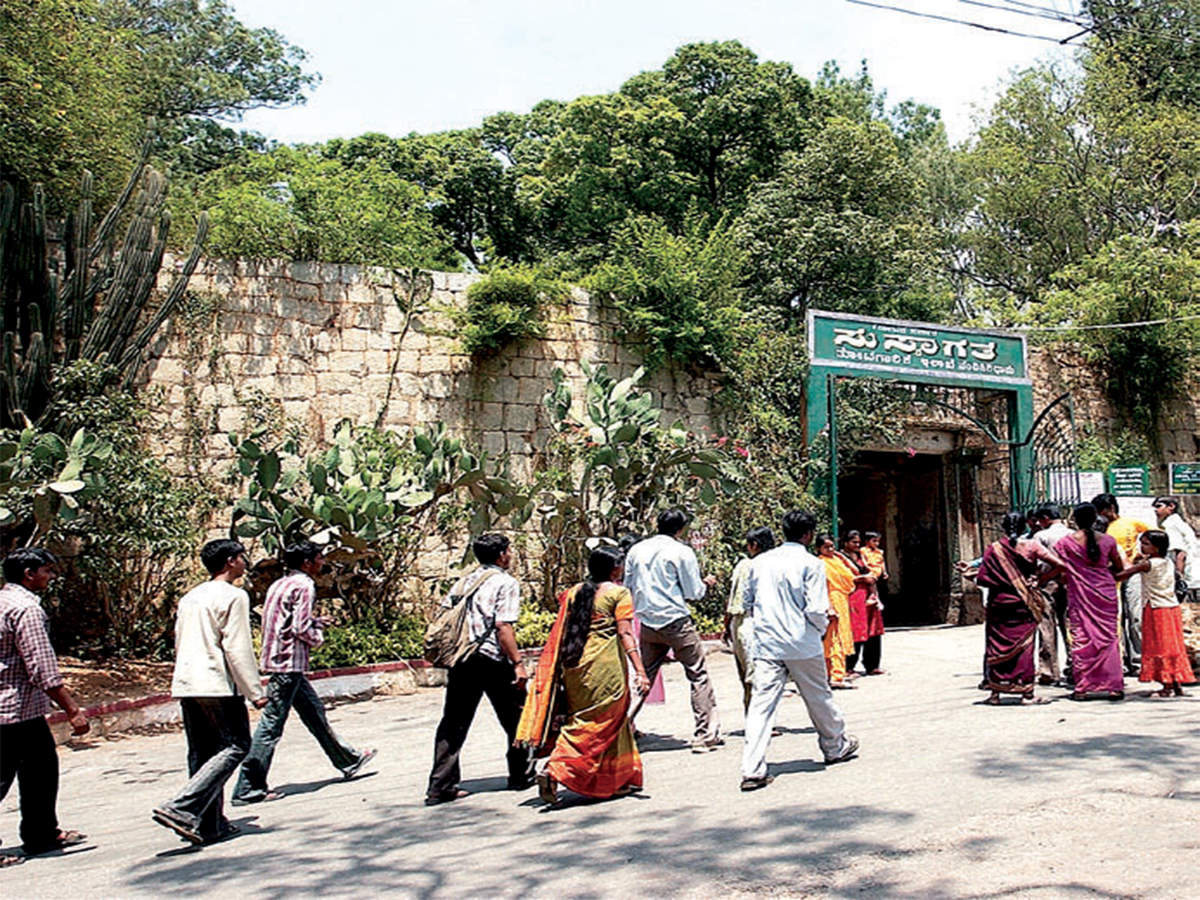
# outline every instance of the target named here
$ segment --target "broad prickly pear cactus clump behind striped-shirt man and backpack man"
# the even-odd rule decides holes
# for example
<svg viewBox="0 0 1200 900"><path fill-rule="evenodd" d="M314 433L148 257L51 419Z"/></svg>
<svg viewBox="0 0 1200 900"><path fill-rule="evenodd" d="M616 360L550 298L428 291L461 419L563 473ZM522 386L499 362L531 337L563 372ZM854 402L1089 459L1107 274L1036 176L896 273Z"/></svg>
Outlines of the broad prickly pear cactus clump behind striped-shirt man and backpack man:
<svg viewBox="0 0 1200 900"><path fill-rule="evenodd" d="M304 458L294 434L269 436L268 427L229 436L246 484L230 529L270 557L301 538L328 538L329 592L352 622L402 611L402 581L426 538L478 534L528 504L503 461L473 452L440 422L400 433L343 421L328 449ZM270 570L272 562L256 565Z"/></svg>

